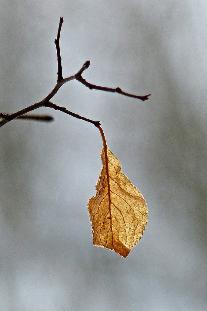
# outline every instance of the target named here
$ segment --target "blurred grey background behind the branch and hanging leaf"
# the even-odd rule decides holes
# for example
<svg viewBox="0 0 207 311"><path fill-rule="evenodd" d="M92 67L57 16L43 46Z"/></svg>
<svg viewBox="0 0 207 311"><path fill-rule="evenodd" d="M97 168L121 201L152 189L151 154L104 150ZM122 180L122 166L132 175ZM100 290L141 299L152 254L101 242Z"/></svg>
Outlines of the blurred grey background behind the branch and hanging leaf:
<svg viewBox="0 0 207 311"><path fill-rule="evenodd" d="M87 202L101 170L92 124L1 128L1 311L206 310L205 1L1 1L1 112L42 100L63 76L120 87L142 102L71 81L52 102L100 120L149 220L126 259L92 245Z"/></svg>

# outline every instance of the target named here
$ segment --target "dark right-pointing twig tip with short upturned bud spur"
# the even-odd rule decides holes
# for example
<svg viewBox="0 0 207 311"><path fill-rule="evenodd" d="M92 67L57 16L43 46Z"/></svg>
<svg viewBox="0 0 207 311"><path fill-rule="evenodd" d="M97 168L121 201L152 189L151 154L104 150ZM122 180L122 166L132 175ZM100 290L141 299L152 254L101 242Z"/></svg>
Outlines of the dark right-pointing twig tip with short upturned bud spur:
<svg viewBox="0 0 207 311"><path fill-rule="evenodd" d="M122 95L125 95L125 96L128 96L128 97L133 97L133 98L137 98L137 99L140 99L142 101L144 100L148 100L149 96L151 94L148 94L148 95L144 95L144 96L139 96L139 95L133 95L133 94L129 94L129 93L126 93L124 91L122 91L120 89L120 87L117 87L117 88L111 88L111 87L105 87L105 86L98 86L98 85L95 85L95 84L91 84L89 82L87 82L85 79L83 79L82 77L82 73L84 70L86 70L90 65L90 61L88 60L87 62L85 62L83 64L83 67L81 68L81 70L79 70L79 72L76 73L75 75L75 78L77 81L81 82L82 84L84 84L86 87L88 87L90 90L92 89L95 89L95 90L100 90L100 91L106 91L106 92L112 92L112 93L119 93L119 94L122 94Z"/></svg>

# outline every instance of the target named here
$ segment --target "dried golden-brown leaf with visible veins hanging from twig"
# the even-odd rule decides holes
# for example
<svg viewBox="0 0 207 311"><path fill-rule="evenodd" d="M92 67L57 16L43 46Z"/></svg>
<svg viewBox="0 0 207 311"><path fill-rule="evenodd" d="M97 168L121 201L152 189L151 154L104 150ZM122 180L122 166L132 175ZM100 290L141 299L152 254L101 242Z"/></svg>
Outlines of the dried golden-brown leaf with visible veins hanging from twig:
<svg viewBox="0 0 207 311"><path fill-rule="evenodd" d="M88 201L93 244L115 250L126 258L145 230L146 202L122 173L119 160L106 144L101 151L101 161L103 167L96 184L96 195Z"/></svg>

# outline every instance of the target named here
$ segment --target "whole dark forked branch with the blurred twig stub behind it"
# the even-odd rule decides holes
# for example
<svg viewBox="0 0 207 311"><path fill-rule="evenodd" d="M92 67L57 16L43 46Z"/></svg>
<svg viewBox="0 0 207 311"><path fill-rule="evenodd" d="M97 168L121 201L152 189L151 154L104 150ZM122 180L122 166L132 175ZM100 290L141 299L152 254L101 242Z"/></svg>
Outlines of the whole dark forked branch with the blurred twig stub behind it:
<svg viewBox="0 0 207 311"><path fill-rule="evenodd" d="M88 118L84 118L84 117L80 116L79 114L75 114L75 113L67 110L65 107L60 107L60 106L57 106L56 104L53 104L50 102L51 98L57 93L57 91L60 89L60 87L63 84L65 84L66 82L69 82L71 80L77 80L77 81L81 82L86 87L88 87L90 90L95 89L95 90L100 90L100 91L119 93L121 95L137 98L137 99L140 99L142 101L148 100L148 97L151 95L151 94L144 95L144 96L133 95L133 94L123 92L119 87L110 88L110 87L104 87L104 86L97 86L95 84L91 84L91 83L87 82L85 79L83 79L82 73L84 72L84 70L86 70L89 67L89 65L90 65L89 60L83 64L82 68L76 74L64 79L62 76L62 64L61 64L61 53L60 53L60 33L61 33L62 23L63 23L63 17L60 17L60 22L59 22L59 27L58 27L58 32L57 32L57 38L55 39L55 45L56 45L56 50L57 50L57 65L58 65L56 86L43 100L41 100L38 103L35 103L31 106L28 106L28 107L26 107L22 110L19 110L13 114L0 113L0 118L2 118L2 120L0 121L0 127L2 127L4 124L6 124L6 123L8 123L11 120L14 120L16 118L39 120L39 121L52 121L53 118L51 116L47 116L47 115L28 115L28 114L25 115L26 113L33 111L33 110L40 108L40 107L49 107L49 108L53 108L55 110L60 110L60 111L66 113L66 114L69 114L75 118L84 120L86 122L90 122L90 123L94 124L96 127L100 126L101 123L99 121L93 121L93 120L90 120Z"/></svg>

